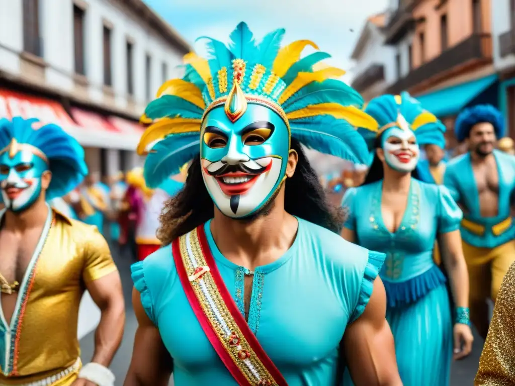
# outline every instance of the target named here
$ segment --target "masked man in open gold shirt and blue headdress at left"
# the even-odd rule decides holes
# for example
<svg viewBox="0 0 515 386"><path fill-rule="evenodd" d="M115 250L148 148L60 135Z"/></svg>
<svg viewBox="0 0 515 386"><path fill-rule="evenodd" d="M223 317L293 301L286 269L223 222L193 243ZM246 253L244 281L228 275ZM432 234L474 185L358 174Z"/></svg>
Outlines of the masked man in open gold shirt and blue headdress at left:
<svg viewBox="0 0 515 386"><path fill-rule="evenodd" d="M87 173L84 151L55 125L0 120L0 384L112 386L107 366L122 339L124 299L97 229L45 199L62 197ZM88 289L101 310L95 355L79 358L77 318Z"/></svg>

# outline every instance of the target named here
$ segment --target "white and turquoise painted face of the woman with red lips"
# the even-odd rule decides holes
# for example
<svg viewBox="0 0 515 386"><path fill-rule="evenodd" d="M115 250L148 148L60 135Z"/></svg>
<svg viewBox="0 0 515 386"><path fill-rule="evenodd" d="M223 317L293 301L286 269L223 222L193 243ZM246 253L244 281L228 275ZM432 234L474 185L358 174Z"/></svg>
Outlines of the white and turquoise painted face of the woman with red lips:
<svg viewBox="0 0 515 386"><path fill-rule="evenodd" d="M392 127L383 134L385 162L393 170L410 172L417 167L420 149L413 131Z"/></svg>

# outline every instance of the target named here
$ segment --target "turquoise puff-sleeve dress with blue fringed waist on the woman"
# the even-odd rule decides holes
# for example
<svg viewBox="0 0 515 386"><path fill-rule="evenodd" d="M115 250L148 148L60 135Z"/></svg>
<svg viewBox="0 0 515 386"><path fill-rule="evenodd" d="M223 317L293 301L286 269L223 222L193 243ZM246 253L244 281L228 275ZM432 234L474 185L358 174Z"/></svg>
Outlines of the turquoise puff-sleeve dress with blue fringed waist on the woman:
<svg viewBox="0 0 515 386"><path fill-rule="evenodd" d="M386 253L380 277L404 386L449 385L453 321L433 246L438 234L459 229L461 210L444 186L411 179L404 217L391 233L382 220L382 190L382 181L347 190L344 226L358 245Z"/></svg>

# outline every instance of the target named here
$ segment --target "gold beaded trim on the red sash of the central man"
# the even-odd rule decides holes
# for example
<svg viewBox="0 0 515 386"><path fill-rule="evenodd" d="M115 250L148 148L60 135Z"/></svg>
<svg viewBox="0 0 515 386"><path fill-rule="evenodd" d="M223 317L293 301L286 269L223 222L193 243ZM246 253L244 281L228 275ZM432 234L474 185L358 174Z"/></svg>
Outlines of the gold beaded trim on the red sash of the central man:
<svg viewBox="0 0 515 386"><path fill-rule="evenodd" d="M200 267L196 269L192 263L192 259L188 254L187 248L187 237L189 235L190 238L190 247L192 251L191 257L195 260L196 266ZM233 362L238 366L238 369L242 372L242 374L247 378L250 384L270 384L277 385L277 382L272 378L266 367L259 360L258 356L255 354L254 350L245 339L242 331L239 329L238 325L234 321L227 305L220 292L218 291L218 287L216 286L213 276L209 270L205 270L207 267L207 262L204 259L202 254L202 249L200 247L200 241L198 239L197 230L191 231L189 234L183 235L179 238L179 247L181 258L184 264L184 268L188 273L188 277L192 278L196 274L200 273L198 278L192 280L190 283L195 292L195 295L202 307L204 314L208 317L211 326L213 327L213 331L216 333L217 338L220 340L220 343L229 354ZM199 281L203 280L204 286L200 286ZM211 307L209 301L207 300L206 295L204 294L202 287L207 289L211 300L213 301L216 310L219 315L221 315L222 319L225 321L228 329L231 331L230 335L227 336L226 331L221 327L220 322L218 321L215 313L213 312L213 308ZM256 377L249 369L249 366L245 361L250 362L253 369L259 374L259 378ZM269 383L268 383L269 382Z"/></svg>

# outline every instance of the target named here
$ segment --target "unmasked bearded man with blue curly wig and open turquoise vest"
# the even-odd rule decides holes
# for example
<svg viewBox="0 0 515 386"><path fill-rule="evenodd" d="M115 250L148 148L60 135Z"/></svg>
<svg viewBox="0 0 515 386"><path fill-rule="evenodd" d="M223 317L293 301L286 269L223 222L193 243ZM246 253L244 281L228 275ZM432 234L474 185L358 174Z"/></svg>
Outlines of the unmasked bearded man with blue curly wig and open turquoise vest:
<svg viewBox="0 0 515 386"><path fill-rule="evenodd" d="M488 332L488 304L515 261L515 226L510 196L515 187L515 157L494 149L504 134L504 117L489 105L462 111L454 128L469 152L451 160L444 184L464 210L463 251L469 269L470 318L479 334Z"/></svg>

